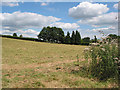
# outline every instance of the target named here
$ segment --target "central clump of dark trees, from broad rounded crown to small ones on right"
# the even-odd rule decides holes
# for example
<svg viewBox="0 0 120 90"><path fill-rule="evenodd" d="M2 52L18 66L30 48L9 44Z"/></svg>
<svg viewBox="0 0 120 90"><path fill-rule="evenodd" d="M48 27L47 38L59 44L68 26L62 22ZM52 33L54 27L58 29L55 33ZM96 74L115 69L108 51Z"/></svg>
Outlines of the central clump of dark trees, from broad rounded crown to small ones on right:
<svg viewBox="0 0 120 90"><path fill-rule="evenodd" d="M90 37L85 37L81 39L80 33L72 31L72 35L67 32L67 35L64 34L64 31L61 28L57 27L44 27L38 35L38 39L44 42L52 43L63 43L63 44L73 44L73 45L89 45L89 43L97 42L97 38L90 40Z"/></svg>

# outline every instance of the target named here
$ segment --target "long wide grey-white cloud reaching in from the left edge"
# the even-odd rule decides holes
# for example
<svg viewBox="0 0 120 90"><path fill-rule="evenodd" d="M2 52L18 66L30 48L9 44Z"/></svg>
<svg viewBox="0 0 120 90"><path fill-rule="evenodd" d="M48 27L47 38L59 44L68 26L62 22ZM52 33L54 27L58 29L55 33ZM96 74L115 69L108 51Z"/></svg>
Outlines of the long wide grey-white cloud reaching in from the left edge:
<svg viewBox="0 0 120 90"><path fill-rule="evenodd" d="M53 16L43 16L30 12L3 13L0 16L3 30L7 28L13 31L18 29L42 28L61 20Z"/></svg>

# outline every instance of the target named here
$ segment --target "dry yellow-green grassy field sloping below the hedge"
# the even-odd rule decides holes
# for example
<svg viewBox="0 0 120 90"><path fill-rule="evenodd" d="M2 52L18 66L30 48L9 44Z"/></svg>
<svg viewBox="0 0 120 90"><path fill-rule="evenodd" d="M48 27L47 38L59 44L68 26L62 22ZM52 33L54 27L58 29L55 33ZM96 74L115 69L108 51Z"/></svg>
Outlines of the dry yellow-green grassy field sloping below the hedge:
<svg viewBox="0 0 120 90"><path fill-rule="evenodd" d="M108 88L114 82L86 77L87 46L2 38L3 88ZM76 63L79 56L80 65Z"/></svg>

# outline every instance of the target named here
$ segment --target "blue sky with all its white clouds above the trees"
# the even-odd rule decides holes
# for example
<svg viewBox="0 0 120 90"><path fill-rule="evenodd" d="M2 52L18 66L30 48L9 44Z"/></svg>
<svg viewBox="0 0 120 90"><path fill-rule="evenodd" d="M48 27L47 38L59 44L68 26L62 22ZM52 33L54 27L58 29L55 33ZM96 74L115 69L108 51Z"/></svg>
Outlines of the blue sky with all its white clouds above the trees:
<svg viewBox="0 0 120 90"><path fill-rule="evenodd" d="M0 13L4 35L34 37L43 27L56 26L81 37L101 38L118 33L117 2L3 2Z"/></svg>

